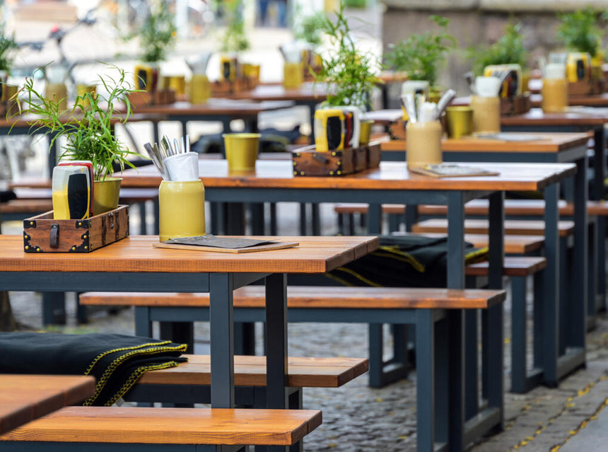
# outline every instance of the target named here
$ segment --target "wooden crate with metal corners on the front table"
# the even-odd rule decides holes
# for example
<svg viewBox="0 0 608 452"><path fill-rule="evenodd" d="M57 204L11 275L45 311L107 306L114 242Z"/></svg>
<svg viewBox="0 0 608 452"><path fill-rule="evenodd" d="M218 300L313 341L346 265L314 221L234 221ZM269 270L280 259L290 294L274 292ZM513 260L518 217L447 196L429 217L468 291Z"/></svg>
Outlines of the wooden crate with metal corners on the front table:
<svg viewBox="0 0 608 452"><path fill-rule="evenodd" d="M53 211L23 220L25 253L89 253L129 236L129 206L83 220L55 220Z"/></svg>

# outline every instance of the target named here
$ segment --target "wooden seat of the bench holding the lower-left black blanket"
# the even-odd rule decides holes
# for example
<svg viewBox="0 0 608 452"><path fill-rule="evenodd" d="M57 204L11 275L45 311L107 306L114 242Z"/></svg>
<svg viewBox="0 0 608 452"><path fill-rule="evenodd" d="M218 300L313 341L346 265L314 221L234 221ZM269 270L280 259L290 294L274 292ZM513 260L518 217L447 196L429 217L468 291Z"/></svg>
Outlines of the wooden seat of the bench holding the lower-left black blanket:
<svg viewBox="0 0 608 452"><path fill-rule="evenodd" d="M184 355L187 363L170 369L149 371L137 384L209 385L211 360L209 355ZM265 386L266 357L235 356L235 386ZM363 358L289 357L287 386L294 388L339 388L368 371Z"/></svg>

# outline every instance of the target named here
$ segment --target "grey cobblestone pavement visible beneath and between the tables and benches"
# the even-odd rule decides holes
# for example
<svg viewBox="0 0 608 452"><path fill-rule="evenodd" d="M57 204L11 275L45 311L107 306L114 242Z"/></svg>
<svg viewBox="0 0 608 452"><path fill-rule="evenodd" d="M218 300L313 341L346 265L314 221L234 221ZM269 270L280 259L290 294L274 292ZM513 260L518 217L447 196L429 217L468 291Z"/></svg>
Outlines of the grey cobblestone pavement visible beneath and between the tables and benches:
<svg viewBox="0 0 608 452"><path fill-rule="evenodd" d="M279 209L283 231L293 232L297 224L296 206ZM322 226L332 233L335 219L331 206L322 209ZM133 221L137 215L131 215ZM4 224L4 233L18 233L19 224ZM139 228L136 224L131 224ZM42 328L39 294L11 292L16 318L29 328ZM98 311L86 325L76 325L76 301L67 301L68 324L52 327L64 332L120 332L133 334L131 309L110 315ZM510 378L510 302L505 303L505 389ZM261 349L261 325L257 325ZM197 323L195 352L209 350L209 328ZM367 357L367 325L293 323L289 325L289 354L317 357ZM386 344L387 349L390 344ZM557 451L575 436L588 419L608 400L608 315L597 319L595 330L587 335L587 367L564 379L559 388L535 388L525 395L505 393L505 429L479 444L471 452ZM415 451L416 450L416 372L407 379L381 389L368 388L366 375L341 388L309 388L304 406L320 409L323 423L305 440L305 451ZM593 449L590 449L593 450Z"/></svg>

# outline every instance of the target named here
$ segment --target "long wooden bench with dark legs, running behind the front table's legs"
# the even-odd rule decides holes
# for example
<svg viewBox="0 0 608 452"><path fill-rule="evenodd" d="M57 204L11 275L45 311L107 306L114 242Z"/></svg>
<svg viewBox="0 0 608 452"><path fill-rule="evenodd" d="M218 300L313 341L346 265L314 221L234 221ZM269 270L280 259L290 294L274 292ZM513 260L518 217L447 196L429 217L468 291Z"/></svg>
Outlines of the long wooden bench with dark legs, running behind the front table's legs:
<svg viewBox="0 0 608 452"><path fill-rule="evenodd" d="M264 321L264 287L245 286L234 291L233 306L236 322ZM502 417L503 413L503 290L481 289L404 289L378 287L298 287L288 286L288 320L291 322L367 323L370 332L370 357L380 362L380 375L370 374L370 385L382 386L401 378L409 369L407 353L402 361L394 359L382 369L382 324L416 326L417 419L422 436L433 437L436 429L447 429L450 419L445 406L448 393L436 388L448 388L450 372L448 349L450 335L448 317L458 311L482 309L483 328L490 331L482 338L481 361L490 376L481 382L485 416ZM124 294L89 293L81 296L82 303L129 303L135 306L137 335L150 335L151 322L163 321L170 315L173 322L209 321L209 296L206 294ZM401 344L404 347L406 344ZM474 354L478 352L475 345ZM404 351L406 351L404 349ZM472 353L467 353L469 356ZM477 361L477 360L475 360ZM464 362L462 366L464 366ZM378 369L376 369L378 370ZM371 361L370 361L371 371ZM455 376L454 378L460 378ZM468 384L468 383L467 383ZM477 375L474 382L477 388ZM469 387L469 386L467 386ZM478 412L477 390L466 393L469 404ZM433 400L438 405L433 405ZM467 419L473 414L467 412Z"/></svg>

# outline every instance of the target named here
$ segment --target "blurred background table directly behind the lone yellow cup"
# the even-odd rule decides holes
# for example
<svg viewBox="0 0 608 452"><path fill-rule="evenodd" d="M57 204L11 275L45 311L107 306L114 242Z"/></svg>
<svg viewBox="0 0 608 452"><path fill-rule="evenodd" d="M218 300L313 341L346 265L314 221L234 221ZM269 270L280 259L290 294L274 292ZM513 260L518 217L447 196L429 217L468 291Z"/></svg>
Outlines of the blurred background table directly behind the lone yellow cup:
<svg viewBox="0 0 608 452"><path fill-rule="evenodd" d="M204 104L191 104L182 101L168 105L140 106L136 108L136 111L163 115L167 121L179 121L182 124L182 135L185 135L189 121L219 121L223 124L223 131L228 133L232 120L244 120L247 132L257 132L257 115L259 113L291 108L293 105L294 103L289 100L253 102L250 98L243 100L211 98ZM154 122L154 141L159 142L158 122Z"/></svg>

